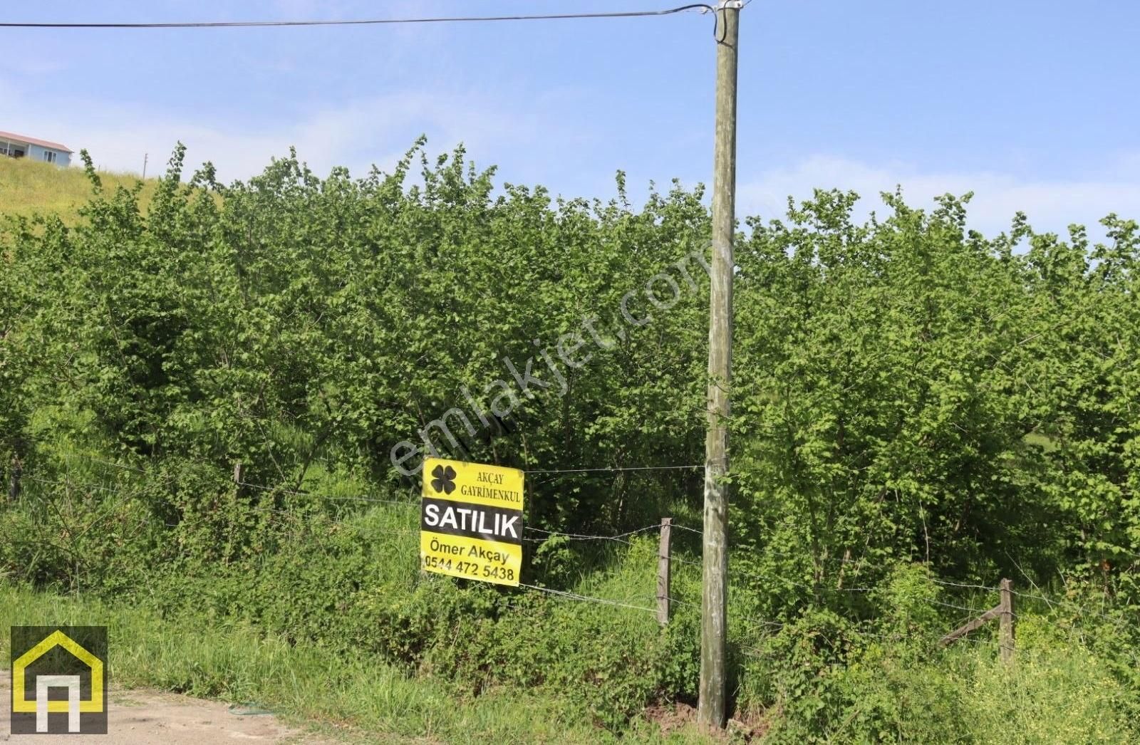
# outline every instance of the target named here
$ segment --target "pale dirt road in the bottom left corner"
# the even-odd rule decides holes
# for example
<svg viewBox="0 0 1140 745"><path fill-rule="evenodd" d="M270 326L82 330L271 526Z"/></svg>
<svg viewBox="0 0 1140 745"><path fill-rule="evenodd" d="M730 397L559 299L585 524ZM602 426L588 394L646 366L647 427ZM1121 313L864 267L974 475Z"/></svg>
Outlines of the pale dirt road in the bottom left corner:
<svg viewBox="0 0 1140 745"><path fill-rule="evenodd" d="M111 690L107 735L9 735L11 678L0 671L0 743L32 745L204 745L272 743L329 745L285 727L270 714L241 715L226 704L156 690ZM236 710L242 711L242 710Z"/></svg>

